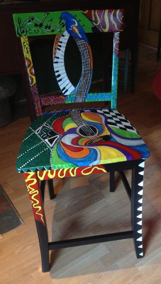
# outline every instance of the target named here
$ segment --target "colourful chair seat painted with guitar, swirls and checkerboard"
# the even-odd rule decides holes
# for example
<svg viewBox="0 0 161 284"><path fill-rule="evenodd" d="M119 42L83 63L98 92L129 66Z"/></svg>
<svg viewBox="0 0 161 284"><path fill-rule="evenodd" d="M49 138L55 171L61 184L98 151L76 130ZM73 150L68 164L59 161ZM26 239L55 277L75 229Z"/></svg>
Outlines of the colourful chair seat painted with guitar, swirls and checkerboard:
<svg viewBox="0 0 161 284"><path fill-rule="evenodd" d="M18 172L67 169L149 157L149 149L117 110L81 109L37 117L30 125L17 159ZM76 124L77 122L77 124Z"/></svg>

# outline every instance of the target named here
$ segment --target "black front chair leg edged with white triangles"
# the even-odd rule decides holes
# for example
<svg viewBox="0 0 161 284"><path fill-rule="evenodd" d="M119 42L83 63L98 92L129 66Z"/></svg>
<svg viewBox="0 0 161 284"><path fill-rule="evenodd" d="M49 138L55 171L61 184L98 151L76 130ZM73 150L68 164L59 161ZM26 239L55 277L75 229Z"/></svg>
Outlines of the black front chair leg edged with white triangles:
<svg viewBox="0 0 161 284"><path fill-rule="evenodd" d="M144 159L136 161L132 170L131 186L131 225L134 233L136 257L143 257L142 246L142 194L143 194Z"/></svg>

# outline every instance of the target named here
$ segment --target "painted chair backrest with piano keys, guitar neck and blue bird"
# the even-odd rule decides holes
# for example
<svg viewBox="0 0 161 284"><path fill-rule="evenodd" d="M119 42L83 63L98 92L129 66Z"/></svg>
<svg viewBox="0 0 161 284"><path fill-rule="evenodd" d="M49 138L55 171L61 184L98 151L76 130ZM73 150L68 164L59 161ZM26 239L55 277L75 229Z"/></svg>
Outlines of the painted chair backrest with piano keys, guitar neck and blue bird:
<svg viewBox="0 0 161 284"><path fill-rule="evenodd" d="M48 112L43 112L45 106L64 103L111 101L111 108L116 109L119 33L123 30L123 9L23 13L14 14L13 18L17 36L21 37L29 83L38 116L48 114ZM113 33L111 92L89 93L93 62L86 33L95 32ZM56 96L40 96L27 37L52 34L56 34L53 46L53 67L62 93ZM70 82L64 63L64 53L70 35L74 38L82 58L82 74L77 86Z"/></svg>

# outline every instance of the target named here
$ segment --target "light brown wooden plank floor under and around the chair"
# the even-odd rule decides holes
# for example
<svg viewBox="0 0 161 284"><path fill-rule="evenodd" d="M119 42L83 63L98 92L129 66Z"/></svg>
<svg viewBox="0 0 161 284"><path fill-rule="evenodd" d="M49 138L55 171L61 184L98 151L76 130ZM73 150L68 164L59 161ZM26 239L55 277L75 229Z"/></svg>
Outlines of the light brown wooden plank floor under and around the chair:
<svg viewBox="0 0 161 284"><path fill-rule="evenodd" d="M118 96L118 110L136 127L149 146L143 199L142 259L136 259L133 240L93 244L51 252L51 271L41 272L40 250L31 205L22 174L15 169L28 117L0 130L0 183L25 225L0 239L1 284L160 284L161 283L161 101L152 91L161 70L155 50L142 46L135 93ZM130 179L130 172L127 172ZM49 239L131 230L130 204L118 176L109 192L108 174L55 180L55 201L45 193Z"/></svg>

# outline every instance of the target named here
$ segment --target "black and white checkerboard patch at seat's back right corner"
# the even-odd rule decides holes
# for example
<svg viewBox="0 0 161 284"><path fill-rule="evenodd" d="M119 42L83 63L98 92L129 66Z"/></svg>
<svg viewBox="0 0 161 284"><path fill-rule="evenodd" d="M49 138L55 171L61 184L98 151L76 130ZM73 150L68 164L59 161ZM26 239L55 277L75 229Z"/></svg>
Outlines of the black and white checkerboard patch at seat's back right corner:
<svg viewBox="0 0 161 284"><path fill-rule="evenodd" d="M127 130L138 134L134 126L127 120L123 114L114 109L97 109L98 113L103 113L108 117L108 125L119 129Z"/></svg>

